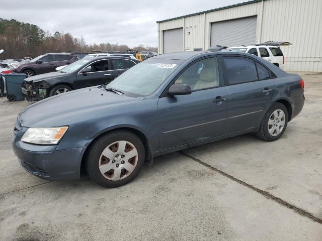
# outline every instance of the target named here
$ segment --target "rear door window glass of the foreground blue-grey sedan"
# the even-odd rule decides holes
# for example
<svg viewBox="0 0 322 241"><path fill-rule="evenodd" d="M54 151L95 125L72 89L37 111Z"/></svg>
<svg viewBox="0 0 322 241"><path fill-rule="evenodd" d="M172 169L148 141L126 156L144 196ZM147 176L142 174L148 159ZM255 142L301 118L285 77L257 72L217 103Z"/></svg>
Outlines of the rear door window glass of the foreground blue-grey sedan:
<svg viewBox="0 0 322 241"><path fill-rule="evenodd" d="M244 57L224 57L225 75L229 84L258 80L255 62Z"/></svg>

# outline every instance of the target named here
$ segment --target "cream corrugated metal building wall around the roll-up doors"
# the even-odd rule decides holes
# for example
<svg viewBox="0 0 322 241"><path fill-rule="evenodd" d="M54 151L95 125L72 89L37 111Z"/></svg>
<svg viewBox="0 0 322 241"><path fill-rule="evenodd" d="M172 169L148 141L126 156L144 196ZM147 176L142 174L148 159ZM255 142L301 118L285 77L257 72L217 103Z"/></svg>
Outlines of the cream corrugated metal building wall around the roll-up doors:
<svg viewBox="0 0 322 241"><path fill-rule="evenodd" d="M158 24L159 53L163 31L184 28L185 51L210 47L211 23L257 15L257 42L291 42L281 47L285 70L322 71L322 0L265 0ZM189 33L189 34L188 34Z"/></svg>

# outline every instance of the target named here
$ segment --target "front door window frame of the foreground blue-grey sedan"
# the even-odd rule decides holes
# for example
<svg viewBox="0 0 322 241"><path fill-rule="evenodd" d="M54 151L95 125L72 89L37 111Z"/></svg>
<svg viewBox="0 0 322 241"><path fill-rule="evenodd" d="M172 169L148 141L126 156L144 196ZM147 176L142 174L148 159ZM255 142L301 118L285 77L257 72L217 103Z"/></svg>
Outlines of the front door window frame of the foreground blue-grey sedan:
<svg viewBox="0 0 322 241"><path fill-rule="evenodd" d="M217 63L218 63L218 71L219 71L219 85L215 86L215 87L209 87L209 88L203 88L203 89L196 89L196 90L192 90L191 92L196 92L199 90L206 90L206 89L214 89L214 88L220 88L224 86L224 82L223 82L223 69L221 66L221 55L206 55L203 57L200 57L198 59L193 60L192 62L190 62L186 67L184 67L184 69L182 69L172 80L171 82L168 84L168 86L164 89L164 91L162 92L162 94L160 94L159 98L163 98L163 97L167 97L168 95L168 89L170 88L171 85L173 85L176 80L180 77L181 74L183 74L190 66L192 66L193 64L197 63L200 60L203 59L209 59L209 58L217 58Z"/></svg>

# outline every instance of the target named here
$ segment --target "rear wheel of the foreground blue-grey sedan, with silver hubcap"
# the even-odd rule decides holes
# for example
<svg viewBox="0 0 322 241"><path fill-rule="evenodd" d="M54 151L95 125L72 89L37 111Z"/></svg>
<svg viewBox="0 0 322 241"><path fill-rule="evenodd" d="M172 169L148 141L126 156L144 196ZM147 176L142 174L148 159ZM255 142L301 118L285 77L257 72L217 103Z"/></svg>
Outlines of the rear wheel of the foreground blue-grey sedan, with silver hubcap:
<svg viewBox="0 0 322 241"><path fill-rule="evenodd" d="M285 132L287 122L288 112L285 105L274 103L265 113L256 136L267 142L276 141Z"/></svg>

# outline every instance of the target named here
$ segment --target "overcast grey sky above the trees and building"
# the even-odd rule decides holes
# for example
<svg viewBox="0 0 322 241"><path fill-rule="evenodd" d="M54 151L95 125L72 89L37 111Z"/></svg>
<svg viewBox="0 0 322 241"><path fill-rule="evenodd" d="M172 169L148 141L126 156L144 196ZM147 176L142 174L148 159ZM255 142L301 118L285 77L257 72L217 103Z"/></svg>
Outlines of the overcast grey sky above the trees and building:
<svg viewBox="0 0 322 241"><path fill-rule="evenodd" d="M35 24L52 34L83 35L88 44L156 47L156 21L241 2L246 0L10 0L0 8L0 18Z"/></svg>

